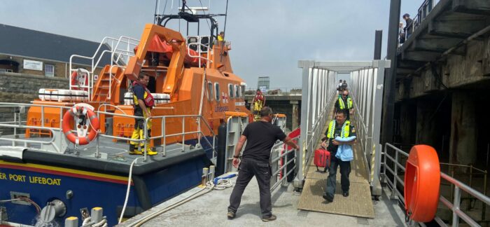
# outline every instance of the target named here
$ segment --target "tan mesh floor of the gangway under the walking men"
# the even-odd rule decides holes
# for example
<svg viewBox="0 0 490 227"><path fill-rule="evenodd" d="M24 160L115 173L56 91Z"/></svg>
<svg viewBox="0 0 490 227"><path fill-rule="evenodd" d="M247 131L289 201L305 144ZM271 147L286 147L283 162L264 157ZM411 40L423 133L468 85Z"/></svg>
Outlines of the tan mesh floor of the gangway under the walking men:
<svg viewBox="0 0 490 227"><path fill-rule="evenodd" d="M326 125L328 126L327 121ZM355 122L354 122L355 125ZM326 127L323 129L325 132ZM318 143L317 147L320 146ZM340 188L340 168L337 168L337 188L335 188L335 198L333 202L327 203L322 198L327 186L328 172L317 172L312 160L304 182L303 191L297 208L314 212L324 212L330 214L344 214L349 216L359 216L374 219L374 208L371 200L370 185L366 171L363 153L358 143L353 146L354 160L351 162L351 174L349 179L349 197L342 196Z"/></svg>

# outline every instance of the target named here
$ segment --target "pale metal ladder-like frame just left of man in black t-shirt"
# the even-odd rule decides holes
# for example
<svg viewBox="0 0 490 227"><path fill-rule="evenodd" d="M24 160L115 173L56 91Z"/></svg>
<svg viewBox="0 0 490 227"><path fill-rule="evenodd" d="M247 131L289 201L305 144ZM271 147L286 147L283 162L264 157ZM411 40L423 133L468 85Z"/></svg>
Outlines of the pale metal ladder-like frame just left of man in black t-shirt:
<svg viewBox="0 0 490 227"><path fill-rule="evenodd" d="M248 116L230 116L228 118L226 123L225 172L237 171L232 165L233 154L235 153L235 147L237 146L238 139L240 139L241 132L244 131L246 125L248 125ZM246 143L242 150L245 146Z"/></svg>

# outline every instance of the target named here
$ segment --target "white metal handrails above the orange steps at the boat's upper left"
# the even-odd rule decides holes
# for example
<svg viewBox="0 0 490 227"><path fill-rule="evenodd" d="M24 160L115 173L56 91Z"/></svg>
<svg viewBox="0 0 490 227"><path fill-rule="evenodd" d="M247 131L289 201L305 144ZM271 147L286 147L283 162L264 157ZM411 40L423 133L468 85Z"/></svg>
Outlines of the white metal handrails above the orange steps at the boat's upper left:
<svg viewBox="0 0 490 227"><path fill-rule="evenodd" d="M71 55L70 63L69 63L69 74L71 75L74 71L78 71L80 69L74 69L73 60L89 60L90 61L90 70L83 69L87 73L87 81L88 84L83 86L73 85L71 84L71 79L69 80L69 89L72 88L87 88L88 91L88 99L92 100L92 88L94 87L94 71L99 67L99 64L107 56L107 54L111 55L110 64L111 69L114 65L118 67L125 67L127 62L130 60L130 57L134 56L134 48L138 46L139 40L133 39L127 36L120 36L119 39L115 39L112 37L104 37L102 42L95 50L94 55L92 57L82 56L82 55ZM105 48L109 48L109 50L104 50ZM117 57L116 57L117 56ZM116 59L114 59L116 57ZM112 72L112 71L111 71ZM111 95L111 80L113 75L111 74L109 77L109 98Z"/></svg>

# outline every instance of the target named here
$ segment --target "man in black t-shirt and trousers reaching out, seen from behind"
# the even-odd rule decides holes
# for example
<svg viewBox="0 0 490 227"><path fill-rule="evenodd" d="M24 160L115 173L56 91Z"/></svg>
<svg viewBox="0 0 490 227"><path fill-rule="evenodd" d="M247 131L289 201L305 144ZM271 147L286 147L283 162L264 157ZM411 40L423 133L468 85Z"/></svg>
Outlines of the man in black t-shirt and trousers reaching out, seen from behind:
<svg viewBox="0 0 490 227"><path fill-rule="evenodd" d="M234 167L239 165L239 172L237 183L233 188L232 195L230 195L228 219L235 218L240 206L241 195L253 176L257 179L260 190L262 221L274 221L276 219L276 216L272 214L270 198L270 178L272 177L272 170L269 165L270 151L278 139L294 149L298 149L298 146L279 127L272 125L272 118L272 109L267 106L263 107L260 110L260 121L246 125L237 143L232 163ZM238 158L245 142L246 146L240 163Z"/></svg>

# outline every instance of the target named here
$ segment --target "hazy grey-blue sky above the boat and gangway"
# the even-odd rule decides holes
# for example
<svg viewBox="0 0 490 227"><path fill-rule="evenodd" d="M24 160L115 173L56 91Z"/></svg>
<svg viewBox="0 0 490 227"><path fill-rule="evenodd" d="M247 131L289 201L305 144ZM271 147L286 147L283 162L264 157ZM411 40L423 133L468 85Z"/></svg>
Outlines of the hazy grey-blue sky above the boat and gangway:
<svg viewBox="0 0 490 227"><path fill-rule="evenodd" d="M155 2L1 0L0 23L96 42L104 36L140 39L144 25L153 23ZM179 2L160 0L159 12L176 13ZM413 18L422 2L402 0L400 14ZM225 13L226 0L187 4ZM225 39L231 41L233 71L248 88L256 88L258 76L269 76L271 88L300 88L298 60L372 60L377 29L383 30L384 57L389 6L389 0L229 0ZM186 35L183 24L181 32ZM224 25L224 18L218 18L220 30ZM179 30L177 23L167 27ZM201 24L200 30L207 27Z"/></svg>

